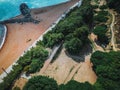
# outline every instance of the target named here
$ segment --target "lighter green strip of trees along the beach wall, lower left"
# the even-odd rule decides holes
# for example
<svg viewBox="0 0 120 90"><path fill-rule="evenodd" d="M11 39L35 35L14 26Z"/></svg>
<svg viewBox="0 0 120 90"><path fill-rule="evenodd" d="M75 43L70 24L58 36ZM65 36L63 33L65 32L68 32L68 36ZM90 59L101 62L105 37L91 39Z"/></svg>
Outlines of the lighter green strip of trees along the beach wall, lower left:
<svg viewBox="0 0 120 90"><path fill-rule="evenodd" d="M7 74L3 82L0 83L0 90L9 90L14 80L19 77L22 71L25 71L27 74L39 71L47 57L48 52L41 45L37 45L27 51L19 58L17 65L12 67L12 71Z"/></svg>

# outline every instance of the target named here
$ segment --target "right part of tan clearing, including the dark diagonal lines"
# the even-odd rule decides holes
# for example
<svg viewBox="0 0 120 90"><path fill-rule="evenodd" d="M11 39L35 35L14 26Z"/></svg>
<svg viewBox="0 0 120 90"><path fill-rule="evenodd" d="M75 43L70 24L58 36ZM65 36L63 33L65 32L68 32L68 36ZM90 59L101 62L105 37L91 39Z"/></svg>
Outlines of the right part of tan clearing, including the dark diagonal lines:
<svg viewBox="0 0 120 90"><path fill-rule="evenodd" d="M85 56L85 62L78 63L74 69L70 72L64 83L67 83L71 79L78 82L90 82L94 84L97 76L92 70L92 63L90 62L91 55Z"/></svg>

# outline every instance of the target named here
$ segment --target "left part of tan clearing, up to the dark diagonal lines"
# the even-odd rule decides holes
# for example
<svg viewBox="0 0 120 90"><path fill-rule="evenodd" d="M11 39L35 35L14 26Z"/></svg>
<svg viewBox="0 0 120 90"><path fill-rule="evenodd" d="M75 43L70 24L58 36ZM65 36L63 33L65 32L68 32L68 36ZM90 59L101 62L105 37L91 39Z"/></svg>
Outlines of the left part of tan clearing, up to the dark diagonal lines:
<svg viewBox="0 0 120 90"><path fill-rule="evenodd" d="M58 84L62 84L77 64L66 55L65 49L63 49L59 57L48 66L44 73L38 72L35 75L49 76L54 78Z"/></svg>

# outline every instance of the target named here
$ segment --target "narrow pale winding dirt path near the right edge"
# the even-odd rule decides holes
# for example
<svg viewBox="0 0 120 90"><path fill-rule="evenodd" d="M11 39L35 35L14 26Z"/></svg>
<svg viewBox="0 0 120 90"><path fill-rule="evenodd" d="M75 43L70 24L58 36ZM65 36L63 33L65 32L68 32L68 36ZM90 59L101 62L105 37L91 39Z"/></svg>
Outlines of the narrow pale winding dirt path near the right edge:
<svg viewBox="0 0 120 90"><path fill-rule="evenodd" d="M117 51L116 47L115 47L115 34L114 34L114 23L115 23L115 15L114 12L112 10L109 10L110 14L112 15L112 22L110 25L110 30L111 30L111 46L113 47L114 51Z"/></svg>

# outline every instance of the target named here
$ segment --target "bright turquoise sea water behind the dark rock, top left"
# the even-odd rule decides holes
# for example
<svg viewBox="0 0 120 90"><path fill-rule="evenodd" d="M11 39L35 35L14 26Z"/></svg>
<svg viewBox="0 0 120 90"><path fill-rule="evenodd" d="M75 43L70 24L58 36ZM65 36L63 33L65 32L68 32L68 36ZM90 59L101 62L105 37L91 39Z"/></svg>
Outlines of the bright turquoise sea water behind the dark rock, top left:
<svg viewBox="0 0 120 90"><path fill-rule="evenodd" d="M21 3L26 3L29 8L40 8L67 1L69 0L0 0L0 21L19 15Z"/></svg>

